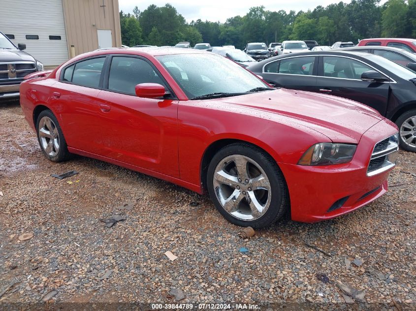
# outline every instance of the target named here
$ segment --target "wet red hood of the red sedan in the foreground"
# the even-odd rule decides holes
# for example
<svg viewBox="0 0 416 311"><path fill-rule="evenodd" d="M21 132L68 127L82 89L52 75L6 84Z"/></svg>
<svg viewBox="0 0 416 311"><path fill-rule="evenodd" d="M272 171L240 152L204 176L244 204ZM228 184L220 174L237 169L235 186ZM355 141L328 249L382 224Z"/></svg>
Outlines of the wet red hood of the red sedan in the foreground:
<svg viewBox="0 0 416 311"><path fill-rule="evenodd" d="M225 97L222 102L246 107L260 117L258 111L282 116L286 121L307 126L334 142L358 143L369 128L384 119L374 109L351 100L284 88ZM264 114L264 117L270 116ZM277 118L277 121L285 122L283 119Z"/></svg>

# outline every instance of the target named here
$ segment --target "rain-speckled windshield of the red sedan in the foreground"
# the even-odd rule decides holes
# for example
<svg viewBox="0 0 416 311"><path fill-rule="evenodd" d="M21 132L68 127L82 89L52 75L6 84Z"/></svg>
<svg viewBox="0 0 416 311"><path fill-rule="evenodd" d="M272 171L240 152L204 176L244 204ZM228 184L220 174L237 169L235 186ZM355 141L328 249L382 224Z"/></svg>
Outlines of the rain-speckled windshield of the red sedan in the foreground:
<svg viewBox="0 0 416 311"><path fill-rule="evenodd" d="M156 57L189 99L241 95L268 85L235 62L216 54Z"/></svg>

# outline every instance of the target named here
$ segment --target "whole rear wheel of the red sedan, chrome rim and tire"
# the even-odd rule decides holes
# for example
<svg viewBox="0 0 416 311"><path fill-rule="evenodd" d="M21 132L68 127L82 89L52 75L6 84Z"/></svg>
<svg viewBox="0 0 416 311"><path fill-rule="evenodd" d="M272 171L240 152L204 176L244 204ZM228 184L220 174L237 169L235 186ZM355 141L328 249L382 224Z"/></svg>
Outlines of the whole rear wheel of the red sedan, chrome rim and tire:
<svg viewBox="0 0 416 311"><path fill-rule="evenodd" d="M39 113L36 122L37 140L45 156L53 162L62 162L69 158L64 134L58 119L50 110Z"/></svg>

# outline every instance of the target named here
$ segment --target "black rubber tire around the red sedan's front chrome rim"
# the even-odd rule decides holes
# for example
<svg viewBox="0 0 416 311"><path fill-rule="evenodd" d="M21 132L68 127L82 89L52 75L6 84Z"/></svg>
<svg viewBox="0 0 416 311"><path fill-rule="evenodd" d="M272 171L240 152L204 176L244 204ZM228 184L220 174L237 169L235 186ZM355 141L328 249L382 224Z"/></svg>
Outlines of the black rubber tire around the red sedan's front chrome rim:
<svg viewBox="0 0 416 311"><path fill-rule="evenodd" d="M265 213L255 220L241 220L229 214L216 196L214 189L215 169L226 157L232 155L242 155L256 161L270 182L270 205ZM251 226L256 229L269 226L279 220L288 210L289 206L288 187L283 173L276 162L260 148L244 142L227 145L215 154L207 171L207 188L218 211L230 223L237 226Z"/></svg>

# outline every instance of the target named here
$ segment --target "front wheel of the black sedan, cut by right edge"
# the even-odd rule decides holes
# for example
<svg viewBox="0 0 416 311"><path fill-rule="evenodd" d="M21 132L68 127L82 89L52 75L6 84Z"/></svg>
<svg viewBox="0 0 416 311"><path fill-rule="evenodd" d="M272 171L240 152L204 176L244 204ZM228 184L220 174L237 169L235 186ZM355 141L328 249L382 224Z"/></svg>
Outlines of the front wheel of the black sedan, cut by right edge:
<svg viewBox="0 0 416 311"><path fill-rule="evenodd" d="M416 152L416 109L400 115L396 125L400 130L400 147Z"/></svg>

